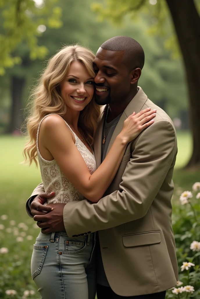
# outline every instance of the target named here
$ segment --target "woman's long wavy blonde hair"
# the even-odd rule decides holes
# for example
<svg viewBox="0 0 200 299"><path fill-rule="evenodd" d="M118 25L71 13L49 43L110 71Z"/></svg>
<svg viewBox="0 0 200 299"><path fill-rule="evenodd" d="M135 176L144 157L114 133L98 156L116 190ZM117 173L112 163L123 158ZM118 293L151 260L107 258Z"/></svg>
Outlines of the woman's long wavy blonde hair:
<svg viewBox="0 0 200 299"><path fill-rule="evenodd" d="M60 82L67 75L71 62L81 62L91 77L95 77L92 62L94 54L87 48L79 45L65 46L50 60L40 75L38 85L32 90L31 98L32 105L29 110L29 116L26 118L27 131L29 141L24 147L25 161L29 161L29 165L34 161L37 162L37 131L40 120L45 115L56 113L64 116L67 112L67 107L60 94ZM83 134L90 146L94 142L94 133L96 131L97 122L99 120L101 107L97 105L93 99L80 112L78 126L81 127Z"/></svg>

